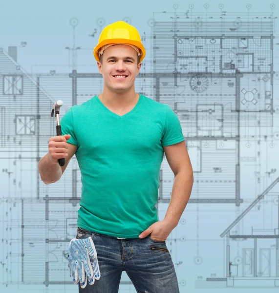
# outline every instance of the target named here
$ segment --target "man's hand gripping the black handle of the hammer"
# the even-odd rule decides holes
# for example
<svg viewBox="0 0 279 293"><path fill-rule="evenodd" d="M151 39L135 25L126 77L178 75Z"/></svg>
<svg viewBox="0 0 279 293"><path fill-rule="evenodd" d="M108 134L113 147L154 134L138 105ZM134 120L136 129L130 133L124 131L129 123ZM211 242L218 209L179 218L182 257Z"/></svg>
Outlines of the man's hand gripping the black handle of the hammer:
<svg viewBox="0 0 279 293"><path fill-rule="evenodd" d="M68 156L67 140L71 137L70 134L53 136L48 142L48 158L53 164L58 164L58 159Z"/></svg>

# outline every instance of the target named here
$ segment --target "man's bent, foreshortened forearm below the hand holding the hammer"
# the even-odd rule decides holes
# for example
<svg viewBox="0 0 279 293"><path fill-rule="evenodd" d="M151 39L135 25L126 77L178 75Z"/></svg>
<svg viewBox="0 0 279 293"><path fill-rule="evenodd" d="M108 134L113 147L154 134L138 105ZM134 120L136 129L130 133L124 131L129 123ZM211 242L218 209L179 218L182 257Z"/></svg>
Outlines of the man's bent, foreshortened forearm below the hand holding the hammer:
<svg viewBox="0 0 279 293"><path fill-rule="evenodd" d="M53 164L46 154L38 164L39 173L45 184L55 183L62 176L62 169L59 164Z"/></svg>

